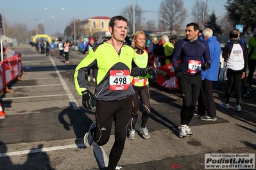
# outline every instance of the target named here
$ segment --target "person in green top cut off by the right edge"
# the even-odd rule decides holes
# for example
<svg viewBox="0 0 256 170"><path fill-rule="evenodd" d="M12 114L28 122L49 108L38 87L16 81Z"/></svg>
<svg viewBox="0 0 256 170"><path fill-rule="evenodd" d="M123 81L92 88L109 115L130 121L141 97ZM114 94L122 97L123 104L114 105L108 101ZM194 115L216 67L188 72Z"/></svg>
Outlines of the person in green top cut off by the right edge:
<svg viewBox="0 0 256 170"><path fill-rule="evenodd" d="M250 66L249 74L247 77L247 86L250 91L254 91L256 88L252 86L252 77L256 67L256 28L253 31L253 36L249 39L249 55Z"/></svg>

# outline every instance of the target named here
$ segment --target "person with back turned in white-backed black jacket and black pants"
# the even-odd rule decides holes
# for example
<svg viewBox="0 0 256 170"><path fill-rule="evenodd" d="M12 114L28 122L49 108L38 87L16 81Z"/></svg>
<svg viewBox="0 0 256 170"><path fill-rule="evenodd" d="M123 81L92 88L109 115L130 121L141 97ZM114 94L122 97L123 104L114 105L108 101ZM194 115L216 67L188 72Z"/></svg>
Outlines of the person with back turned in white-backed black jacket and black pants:
<svg viewBox="0 0 256 170"><path fill-rule="evenodd" d="M230 42L227 42L223 49L223 58L226 62L227 77L226 81L226 91L225 91L225 102L223 104L219 104L220 107L224 107L228 109L230 107L229 99L232 84L234 83L234 88L236 94L236 105L234 107L234 111L242 111L240 101L241 101L241 89L240 83L241 79L244 78L246 73L246 65L248 63L248 54L246 52L246 47L239 40L239 31L233 29L229 34Z"/></svg>

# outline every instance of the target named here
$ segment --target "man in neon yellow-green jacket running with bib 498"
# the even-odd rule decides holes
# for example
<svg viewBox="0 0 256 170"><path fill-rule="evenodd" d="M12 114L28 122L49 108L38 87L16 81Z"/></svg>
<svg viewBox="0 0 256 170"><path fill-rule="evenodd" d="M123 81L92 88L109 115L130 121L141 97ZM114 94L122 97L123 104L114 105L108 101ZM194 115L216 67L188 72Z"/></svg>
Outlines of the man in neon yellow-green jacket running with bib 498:
<svg viewBox="0 0 256 170"><path fill-rule="evenodd" d="M135 52L129 45L123 43L127 34L127 20L122 16L110 19L108 30L110 40L99 43L90 50L74 72L76 91L82 95L85 109L96 105L96 123L90 126L85 134L85 146L89 147L95 141L102 146L107 144L115 121L115 142L110 151L107 169L115 169L124 150L128 125L132 118L132 96L134 91L130 85L130 75L144 77L147 72L157 80L154 68L139 68L133 58ZM96 89L93 95L86 84L85 73L88 69L96 69ZM117 76L118 79L117 79ZM117 83L116 83L117 81ZM97 98L96 98L97 97Z"/></svg>

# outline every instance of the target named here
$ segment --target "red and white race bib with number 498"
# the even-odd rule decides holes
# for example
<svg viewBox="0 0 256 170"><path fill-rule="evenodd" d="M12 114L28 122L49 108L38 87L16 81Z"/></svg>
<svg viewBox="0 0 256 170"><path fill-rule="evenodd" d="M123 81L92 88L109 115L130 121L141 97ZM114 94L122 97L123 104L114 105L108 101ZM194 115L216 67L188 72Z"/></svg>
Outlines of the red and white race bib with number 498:
<svg viewBox="0 0 256 170"><path fill-rule="evenodd" d="M126 90L130 86L129 70L110 70L109 89Z"/></svg>

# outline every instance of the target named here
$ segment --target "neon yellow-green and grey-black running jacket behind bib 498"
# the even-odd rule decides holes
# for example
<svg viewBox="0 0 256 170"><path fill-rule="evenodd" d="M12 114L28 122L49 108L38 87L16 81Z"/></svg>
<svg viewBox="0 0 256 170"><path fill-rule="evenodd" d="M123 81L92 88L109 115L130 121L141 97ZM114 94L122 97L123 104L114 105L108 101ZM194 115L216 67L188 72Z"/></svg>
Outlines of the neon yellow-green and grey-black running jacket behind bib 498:
<svg viewBox="0 0 256 170"><path fill-rule="evenodd" d="M79 95L89 89L85 81L87 70L93 69L96 78L95 96L98 100L115 101L133 96L132 85L126 90L114 91L109 89L110 70L129 70L132 76L145 76L146 68L139 68L133 61L135 51L130 45L124 44L119 54L111 43L103 42L92 47L87 56L76 66L74 85Z"/></svg>

